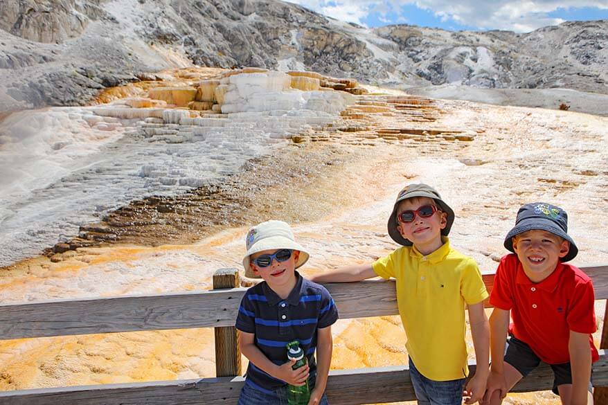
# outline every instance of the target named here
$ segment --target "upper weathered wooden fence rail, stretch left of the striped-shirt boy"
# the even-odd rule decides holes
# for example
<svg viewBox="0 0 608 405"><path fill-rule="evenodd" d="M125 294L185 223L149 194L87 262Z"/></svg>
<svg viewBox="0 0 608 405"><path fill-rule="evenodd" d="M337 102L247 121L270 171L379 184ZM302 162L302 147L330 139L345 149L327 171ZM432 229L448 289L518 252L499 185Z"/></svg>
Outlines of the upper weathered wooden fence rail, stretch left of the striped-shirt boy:
<svg viewBox="0 0 608 405"><path fill-rule="evenodd" d="M244 291L0 305L0 339L230 326Z"/></svg>

